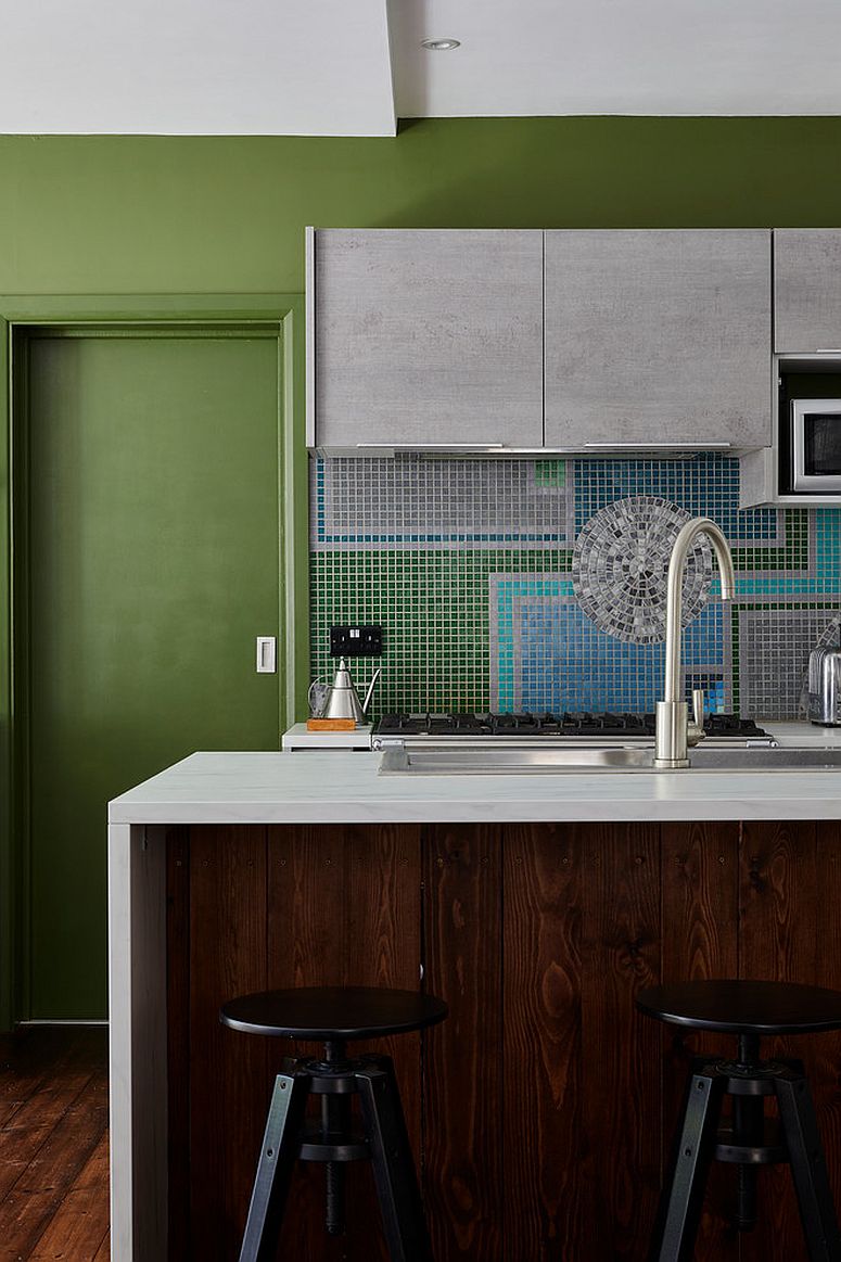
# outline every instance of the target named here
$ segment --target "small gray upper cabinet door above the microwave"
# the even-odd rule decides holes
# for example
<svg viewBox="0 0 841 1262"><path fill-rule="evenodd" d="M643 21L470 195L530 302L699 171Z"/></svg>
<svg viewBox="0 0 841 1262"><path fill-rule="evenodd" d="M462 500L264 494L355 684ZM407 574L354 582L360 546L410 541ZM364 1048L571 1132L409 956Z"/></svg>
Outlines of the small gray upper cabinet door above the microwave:
<svg viewBox="0 0 841 1262"><path fill-rule="evenodd" d="M774 232L774 350L841 348L841 231Z"/></svg>

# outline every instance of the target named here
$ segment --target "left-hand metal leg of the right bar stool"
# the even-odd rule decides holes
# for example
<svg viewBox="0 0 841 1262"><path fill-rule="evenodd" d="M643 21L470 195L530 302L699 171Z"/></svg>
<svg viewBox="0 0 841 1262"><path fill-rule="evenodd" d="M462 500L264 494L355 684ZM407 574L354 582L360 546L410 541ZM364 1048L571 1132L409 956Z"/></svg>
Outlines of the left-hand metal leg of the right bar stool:
<svg viewBox="0 0 841 1262"><path fill-rule="evenodd" d="M649 1262L692 1262L726 1085L713 1064L692 1061Z"/></svg>

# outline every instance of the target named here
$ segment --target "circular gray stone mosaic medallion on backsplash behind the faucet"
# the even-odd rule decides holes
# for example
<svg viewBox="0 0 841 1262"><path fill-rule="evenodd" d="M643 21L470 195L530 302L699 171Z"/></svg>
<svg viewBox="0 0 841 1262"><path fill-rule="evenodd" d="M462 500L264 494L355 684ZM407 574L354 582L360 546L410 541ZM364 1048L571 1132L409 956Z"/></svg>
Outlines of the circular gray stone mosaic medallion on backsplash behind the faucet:
<svg viewBox="0 0 841 1262"><path fill-rule="evenodd" d="M691 514L653 495L616 500L587 521L572 553L572 584L578 604L602 631L630 644L665 639L669 558ZM707 602L712 549L700 535L686 562L683 626Z"/></svg>

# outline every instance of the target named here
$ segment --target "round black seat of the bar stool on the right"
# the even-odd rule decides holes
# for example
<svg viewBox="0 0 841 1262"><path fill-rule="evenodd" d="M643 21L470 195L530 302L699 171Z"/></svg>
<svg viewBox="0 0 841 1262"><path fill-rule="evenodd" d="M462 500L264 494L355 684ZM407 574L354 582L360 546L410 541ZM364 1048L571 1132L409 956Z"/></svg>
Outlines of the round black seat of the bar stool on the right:
<svg viewBox="0 0 841 1262"><path fill-rule="evenodd" d="M636 996L647 1016L720 1034L841 1030L841 992L793 982L703 981L652 986Z"/></svg>

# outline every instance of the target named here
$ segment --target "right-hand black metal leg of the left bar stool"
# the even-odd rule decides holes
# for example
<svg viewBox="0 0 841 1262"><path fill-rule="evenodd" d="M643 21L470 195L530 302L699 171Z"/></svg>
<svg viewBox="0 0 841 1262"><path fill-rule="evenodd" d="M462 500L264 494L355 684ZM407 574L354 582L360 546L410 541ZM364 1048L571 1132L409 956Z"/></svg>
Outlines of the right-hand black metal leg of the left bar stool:
<svg viewBox="0 0 841 1262"><path fill-rule="evenodd" d="M391 1262L431 1262L420 1191L390 1059L378 1056L360 1066L356 1082Z"/></svg>

